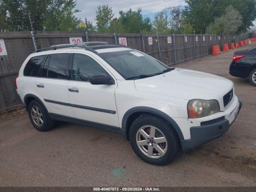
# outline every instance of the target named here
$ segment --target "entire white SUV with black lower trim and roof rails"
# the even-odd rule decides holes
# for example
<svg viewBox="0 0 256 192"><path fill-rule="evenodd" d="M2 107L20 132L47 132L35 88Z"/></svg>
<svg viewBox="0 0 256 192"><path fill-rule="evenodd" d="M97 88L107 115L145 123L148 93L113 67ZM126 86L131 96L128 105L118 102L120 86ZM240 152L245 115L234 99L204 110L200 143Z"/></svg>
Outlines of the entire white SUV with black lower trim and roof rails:
<svg viewBox="0 0 256 192"><path fill-rule="evenodd" d="M242 106L226 78L106 42L38 50L15 83L37 130L61 120L120 133L157 165L224 134Z"/></svg>

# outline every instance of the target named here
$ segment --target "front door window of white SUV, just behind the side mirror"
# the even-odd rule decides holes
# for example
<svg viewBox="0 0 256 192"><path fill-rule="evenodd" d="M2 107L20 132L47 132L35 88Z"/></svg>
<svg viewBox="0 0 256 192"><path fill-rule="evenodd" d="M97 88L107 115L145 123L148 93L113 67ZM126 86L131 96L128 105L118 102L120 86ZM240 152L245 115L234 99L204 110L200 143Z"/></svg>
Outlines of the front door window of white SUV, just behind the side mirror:
<svg viewBox="0 0 256 192"><path fill-rule="evenodd" d="M107 76L107 72L93 58L83 54L74 54L72 79L89 82L90 76L93 75Z"/></svg>

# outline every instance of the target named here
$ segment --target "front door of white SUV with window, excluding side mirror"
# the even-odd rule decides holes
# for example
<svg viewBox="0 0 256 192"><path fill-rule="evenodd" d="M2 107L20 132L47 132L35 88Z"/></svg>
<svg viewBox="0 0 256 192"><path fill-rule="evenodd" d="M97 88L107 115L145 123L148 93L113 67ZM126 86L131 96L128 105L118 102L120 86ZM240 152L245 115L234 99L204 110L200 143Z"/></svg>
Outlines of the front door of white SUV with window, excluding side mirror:
<svg viewBox="0 0 256 192"><path fill-rule="evenodd" d="M72 54L68 94L74 115L78 119L119 127L116 111L113 76L94 58L86 54ZM92 85L90 76L105 75L112 85Z"/></svg>

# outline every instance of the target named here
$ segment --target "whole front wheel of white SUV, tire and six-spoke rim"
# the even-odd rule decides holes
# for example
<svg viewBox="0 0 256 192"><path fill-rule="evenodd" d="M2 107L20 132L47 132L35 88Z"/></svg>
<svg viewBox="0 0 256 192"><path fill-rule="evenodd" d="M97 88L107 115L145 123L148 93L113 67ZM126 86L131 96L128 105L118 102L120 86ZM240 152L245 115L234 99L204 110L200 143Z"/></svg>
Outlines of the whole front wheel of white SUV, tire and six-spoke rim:
<svg viewBox="0 0 256 192"><path fill-rule="evenodd" d="M180 149L174 128L166 120L152 114L143 114L134 120L129 139L138 157L155 165L172 162Z"/></svg>

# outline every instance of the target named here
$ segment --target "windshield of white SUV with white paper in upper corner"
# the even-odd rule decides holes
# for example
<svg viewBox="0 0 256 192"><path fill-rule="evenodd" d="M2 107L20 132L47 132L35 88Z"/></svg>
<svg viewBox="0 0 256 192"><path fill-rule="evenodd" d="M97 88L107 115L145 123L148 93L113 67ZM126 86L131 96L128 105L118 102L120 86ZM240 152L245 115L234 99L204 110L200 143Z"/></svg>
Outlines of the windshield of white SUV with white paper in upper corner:
<svg viewBox="0 0 256 192"><path fill-rule="evenodd" d="M165 64L136 50L98 53L123 78L146 78L164 73L170 69Z"/></svg>

